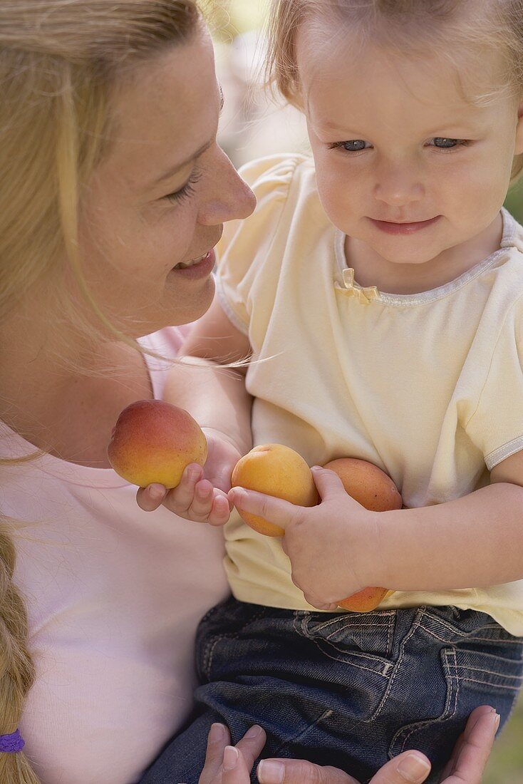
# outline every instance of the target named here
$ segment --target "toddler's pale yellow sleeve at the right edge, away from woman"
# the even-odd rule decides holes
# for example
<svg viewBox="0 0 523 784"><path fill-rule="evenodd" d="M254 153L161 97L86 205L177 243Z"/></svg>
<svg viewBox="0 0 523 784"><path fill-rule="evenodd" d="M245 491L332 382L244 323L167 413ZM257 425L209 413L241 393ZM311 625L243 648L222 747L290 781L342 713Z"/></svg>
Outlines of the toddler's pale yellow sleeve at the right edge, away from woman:
<svg viewBox="0 0 523 784"><path fill-rule="evenodd" d="M523 298L510 308L465 426L488 470L523 449Z"/></svg>

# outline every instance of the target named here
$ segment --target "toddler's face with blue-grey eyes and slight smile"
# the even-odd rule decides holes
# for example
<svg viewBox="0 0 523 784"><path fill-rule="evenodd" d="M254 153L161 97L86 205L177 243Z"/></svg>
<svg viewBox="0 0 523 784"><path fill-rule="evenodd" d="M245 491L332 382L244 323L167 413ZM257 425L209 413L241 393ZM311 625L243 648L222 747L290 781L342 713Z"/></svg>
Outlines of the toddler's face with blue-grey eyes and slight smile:
<svg viewBox="0 0 523 784"><path fill-rule="evenodd" d="M347 36L336 44L328 26L300 31L322 204L336 227L389 262L424 263L481 234L523 151L517 102L496 92L495 57L461 53L459 63L458 74L442 56L358 49ZM485 105L467 100L492 91Z"/></svg>

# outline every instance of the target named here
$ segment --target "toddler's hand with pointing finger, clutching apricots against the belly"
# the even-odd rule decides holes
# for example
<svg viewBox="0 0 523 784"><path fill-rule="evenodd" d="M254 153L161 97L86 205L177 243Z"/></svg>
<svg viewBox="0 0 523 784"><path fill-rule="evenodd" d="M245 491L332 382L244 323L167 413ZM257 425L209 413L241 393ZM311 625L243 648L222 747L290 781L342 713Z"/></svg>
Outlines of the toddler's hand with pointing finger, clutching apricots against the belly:
<svg viewBox="0 0 523 784"><path fill-rule="evenodd" d="M233 488L229 499L242 510L281 525L281 546L292 565L292 582L309 604L335 610L338 602L365 586L382 585L376 514L347 495L333 471L314 467L321 496L305 508L270 495Z"/></svg>

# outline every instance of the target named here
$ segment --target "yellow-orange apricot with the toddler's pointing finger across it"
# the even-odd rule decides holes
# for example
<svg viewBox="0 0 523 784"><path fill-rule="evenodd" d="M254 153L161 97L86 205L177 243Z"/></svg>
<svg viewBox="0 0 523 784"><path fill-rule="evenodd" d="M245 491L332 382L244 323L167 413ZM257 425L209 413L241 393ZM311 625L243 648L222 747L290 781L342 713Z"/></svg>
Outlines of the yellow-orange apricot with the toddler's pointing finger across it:
<svg viewBox="0 0 523 784"><path fill-rule="evenodd" d="M315 506L318 491L311 469L294 449L282 444L256 446L238 460L231 483L248 490L263 492L297 506ZM266 536L283 536L281 526L256 514L238 509L238 514L251 528Z"/></svg>

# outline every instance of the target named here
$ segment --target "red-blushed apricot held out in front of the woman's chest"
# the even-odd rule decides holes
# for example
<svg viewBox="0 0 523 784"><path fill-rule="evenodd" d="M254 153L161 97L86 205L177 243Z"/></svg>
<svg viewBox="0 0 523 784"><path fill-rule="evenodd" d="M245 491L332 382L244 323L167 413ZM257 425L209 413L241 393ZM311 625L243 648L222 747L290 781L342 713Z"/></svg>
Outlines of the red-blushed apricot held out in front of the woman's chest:
<svg viewBox="0 0 523 784"><path fill-rule="evenodd" d="M180 484L189 463L203 466L207 440L191 414L160 400L139 400L124 408L107 445L109 463L132 485Z"/></svg>

